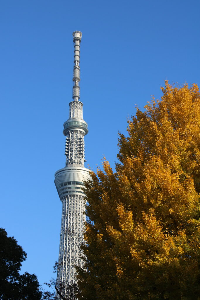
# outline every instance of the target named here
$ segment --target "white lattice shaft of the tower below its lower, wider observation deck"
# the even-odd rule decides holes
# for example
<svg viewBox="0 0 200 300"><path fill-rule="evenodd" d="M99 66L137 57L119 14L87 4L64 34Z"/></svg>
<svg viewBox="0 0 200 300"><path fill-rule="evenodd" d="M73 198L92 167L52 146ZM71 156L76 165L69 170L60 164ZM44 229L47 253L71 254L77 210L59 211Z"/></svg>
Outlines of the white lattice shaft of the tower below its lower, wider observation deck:
<svg viewBox="0 0 200 300"><path fill-rule="evenodd" d="M79 244L85 218L85 200L80 195L61 198L63 203L58 278L66 284L75 283L75 266L82 266Z"/></svg>

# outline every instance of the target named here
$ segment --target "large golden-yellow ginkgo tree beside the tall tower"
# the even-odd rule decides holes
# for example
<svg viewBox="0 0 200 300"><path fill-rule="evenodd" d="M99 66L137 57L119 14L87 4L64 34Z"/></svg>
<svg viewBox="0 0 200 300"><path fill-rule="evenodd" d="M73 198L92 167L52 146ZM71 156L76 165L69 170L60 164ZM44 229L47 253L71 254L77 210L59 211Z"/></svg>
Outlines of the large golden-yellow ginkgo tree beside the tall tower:
<svg viewBox="0 0 200 300"><path fill-rule="evenodd" d="M200 95L166 82L91 172L79 299L200 299Z"/></svg>

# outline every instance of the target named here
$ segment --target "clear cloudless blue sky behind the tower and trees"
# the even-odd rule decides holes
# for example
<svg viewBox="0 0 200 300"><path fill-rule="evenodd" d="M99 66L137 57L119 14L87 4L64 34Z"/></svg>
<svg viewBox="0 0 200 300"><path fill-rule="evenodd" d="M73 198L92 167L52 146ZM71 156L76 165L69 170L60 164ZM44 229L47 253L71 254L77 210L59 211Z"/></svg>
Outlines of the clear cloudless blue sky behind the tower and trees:
<svg viewBox="0 0 200 300"><path fill-rule="evenodd" d="M200 2L3 0L0 10L0 226L28 255L40 283L58 259L63 123L72 101L72 32L82 31L87 163L115 166L118 131L164 80L199 84ZM86 163L86 166L87 166Z"/></svg>

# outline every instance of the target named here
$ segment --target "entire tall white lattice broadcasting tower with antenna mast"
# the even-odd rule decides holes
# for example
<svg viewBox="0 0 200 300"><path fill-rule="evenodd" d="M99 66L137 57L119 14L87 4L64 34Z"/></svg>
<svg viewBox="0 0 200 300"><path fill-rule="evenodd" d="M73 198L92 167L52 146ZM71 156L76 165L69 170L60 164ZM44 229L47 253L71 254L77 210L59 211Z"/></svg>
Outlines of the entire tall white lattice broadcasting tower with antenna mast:
<svg viewBox="0 0 200 300"><path fill-rule="evenodd" d="M83 120L83 104L80 98L80 42L82 33L73 32L74 67L73 101L69 104L69 119L64 122L63 134L66 136L66 165L55 173L55 186L62 202L62 220L60 249L58 259L57 286L76 283L75 265L82 266L79 243L83 239L85 222L85 194L82 191L83 180L90 178L89 170L84 167L84 136L88 133L88 124Z"/></svg>

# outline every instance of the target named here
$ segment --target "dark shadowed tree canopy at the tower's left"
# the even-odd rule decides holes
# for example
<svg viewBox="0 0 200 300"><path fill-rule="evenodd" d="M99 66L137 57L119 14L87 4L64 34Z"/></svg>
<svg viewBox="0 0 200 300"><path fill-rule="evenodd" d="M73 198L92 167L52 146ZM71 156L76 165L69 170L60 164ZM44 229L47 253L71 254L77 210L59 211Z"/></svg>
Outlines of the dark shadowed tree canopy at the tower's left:
<svg viewBox="0 0 200 300"><path fill-rule="evenodd" d="M0 299L40 300L42 292L35 274L19 274L27 255L13 237L0 228Z"/></svg>

